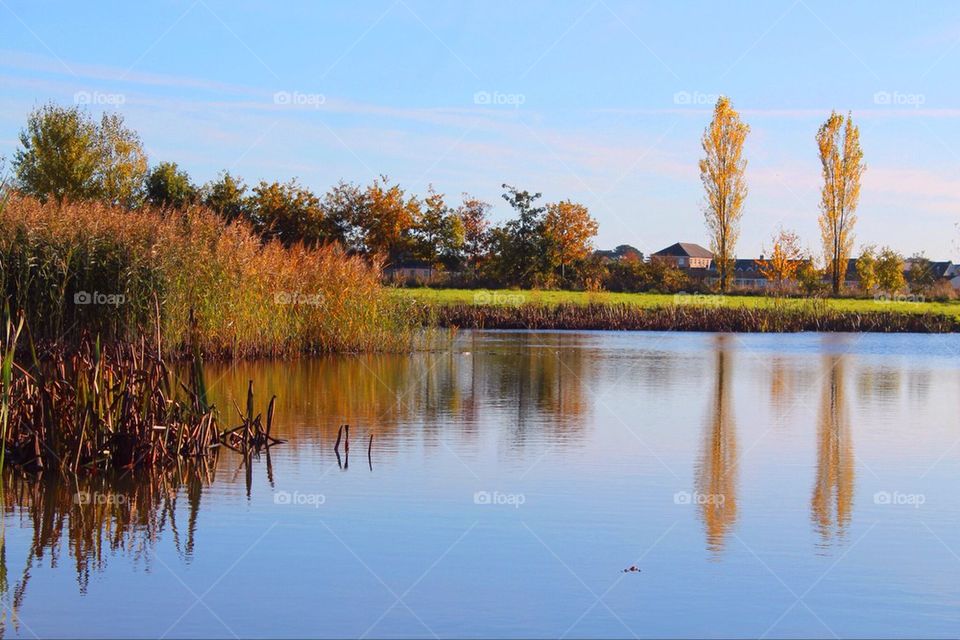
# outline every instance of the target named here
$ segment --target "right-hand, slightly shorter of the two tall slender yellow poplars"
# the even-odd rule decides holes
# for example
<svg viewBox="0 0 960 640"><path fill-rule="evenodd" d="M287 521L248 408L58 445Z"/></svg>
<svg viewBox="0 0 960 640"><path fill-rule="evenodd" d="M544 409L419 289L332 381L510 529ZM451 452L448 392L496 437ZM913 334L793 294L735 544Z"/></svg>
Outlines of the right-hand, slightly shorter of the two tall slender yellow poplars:
<svg viewBox="0 0 960 640"><path fill-rule="evenodd" d="M860 149L860 129L853 117L830 114L817 132L823 167L820 235L834 295L840 293L853 248L853 227L860 200L860 179L866 169Z"/></svg>

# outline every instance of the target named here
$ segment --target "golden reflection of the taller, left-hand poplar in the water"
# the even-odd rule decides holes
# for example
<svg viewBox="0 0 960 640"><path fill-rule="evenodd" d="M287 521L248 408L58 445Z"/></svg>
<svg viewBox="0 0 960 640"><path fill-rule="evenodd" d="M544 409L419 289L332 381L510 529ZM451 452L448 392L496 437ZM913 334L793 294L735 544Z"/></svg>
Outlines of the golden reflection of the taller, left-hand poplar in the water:
<svg viewBox="0 0 960 640"><path fill-rule="evenodd" d="M706 530L707 548L722 551L727 532L737 519L737 435L730 398L730 355L722 338L717 347L716 384L704 433L697 501Z"/></svg>

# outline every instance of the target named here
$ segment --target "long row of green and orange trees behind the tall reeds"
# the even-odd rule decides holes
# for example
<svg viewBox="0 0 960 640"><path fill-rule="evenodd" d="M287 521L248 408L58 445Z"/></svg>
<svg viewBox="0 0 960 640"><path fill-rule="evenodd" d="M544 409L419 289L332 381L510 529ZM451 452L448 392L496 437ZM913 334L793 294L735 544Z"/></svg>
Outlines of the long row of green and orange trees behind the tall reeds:
<svg viewBox="0 0 960 640"><path fill-rule="evenodd" d="M468 194L451 204L431 186L420 198L385 176L366 186L341 181L322 196L296 180L248 188L228 171L199 186L176 163L151 168L139 135L119 114L96 121L79 107L34 110L20 142L13 159L17 186L44 201L96 199L170 210L202 205L286 245L336 242L387 265L418 261L502 285L562 285L581 277L577 266L591 254L597 233L584 205L543 204L540 193L506 184L503 198L515 217L500 225L491 223L489 203Z"/></svg>

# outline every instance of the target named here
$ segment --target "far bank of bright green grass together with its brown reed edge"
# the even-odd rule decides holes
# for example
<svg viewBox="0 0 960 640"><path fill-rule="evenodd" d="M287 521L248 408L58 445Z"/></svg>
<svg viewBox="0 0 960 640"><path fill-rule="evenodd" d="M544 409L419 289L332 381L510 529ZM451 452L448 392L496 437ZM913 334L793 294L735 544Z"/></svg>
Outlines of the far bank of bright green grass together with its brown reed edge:
<svg viewBox="0 0 960 640"><path fill-rule="evenodd" d="M393 295L417 301L425 322L460 328L915 333L960 330L957 302L462 289L402 289L395 290Z"/></svg>

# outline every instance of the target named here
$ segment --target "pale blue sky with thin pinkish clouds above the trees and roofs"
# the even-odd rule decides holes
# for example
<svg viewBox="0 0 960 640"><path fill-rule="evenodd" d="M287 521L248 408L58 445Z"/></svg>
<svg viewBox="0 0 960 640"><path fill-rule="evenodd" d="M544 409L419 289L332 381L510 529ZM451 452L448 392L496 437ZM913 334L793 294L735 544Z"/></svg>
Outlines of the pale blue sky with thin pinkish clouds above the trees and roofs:
<svg viewBox="0 0 960 640"><path fill-rule="evenodd" d="M597 245L706 244L697 159L717 94L751 126L740 255L819 250L814 134L852 111L857 244L960 260L960 3L0 0L0 155L34 106L118 109L203 182L386 174L508 215L572 198Z"/></svg>

